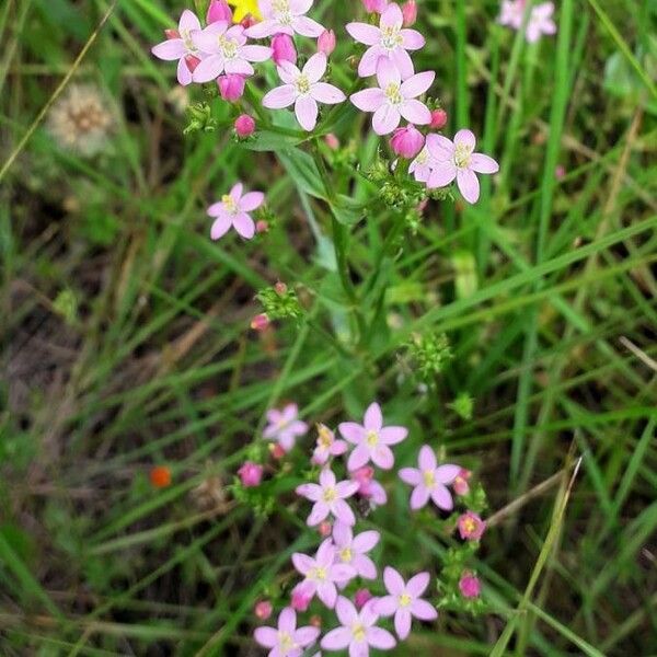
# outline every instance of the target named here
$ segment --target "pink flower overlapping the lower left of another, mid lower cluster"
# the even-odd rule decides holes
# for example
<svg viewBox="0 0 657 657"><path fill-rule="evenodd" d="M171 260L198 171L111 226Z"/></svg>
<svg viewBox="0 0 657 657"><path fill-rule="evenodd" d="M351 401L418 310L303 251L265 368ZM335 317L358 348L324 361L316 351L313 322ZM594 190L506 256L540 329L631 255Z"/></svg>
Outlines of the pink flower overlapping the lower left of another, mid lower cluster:
<svg viewBox="0 0 657 657"><path fill-rule="evenodd" d="M295 568L303 575L292 590L292 595L310 596L316 593L318 598L328 609L335 607L337 599L336 583L348 581L356 576L356 570L347 564L335 563L335 546L331 539L326 539L320 545L314 557L300 552L292 554Z"/></svg>

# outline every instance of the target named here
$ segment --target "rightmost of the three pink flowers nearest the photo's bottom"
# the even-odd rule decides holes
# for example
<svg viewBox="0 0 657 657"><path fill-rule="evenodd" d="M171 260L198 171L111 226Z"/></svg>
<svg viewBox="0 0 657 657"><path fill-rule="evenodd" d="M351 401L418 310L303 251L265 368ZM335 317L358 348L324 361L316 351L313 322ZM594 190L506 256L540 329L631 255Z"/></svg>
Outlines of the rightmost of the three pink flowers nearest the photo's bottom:
<svg viewBox="0 0 657 657"><path fill-rule="evenodd" d="M411 633L413 616L420 621L434 621L438 618L434 606L420 598L429 586L428 573L419 573L404 583L394 568L387 566L383 583L389 595L377 600L376 610L383 616L394 614L394 629L402 641Z"/></svg>

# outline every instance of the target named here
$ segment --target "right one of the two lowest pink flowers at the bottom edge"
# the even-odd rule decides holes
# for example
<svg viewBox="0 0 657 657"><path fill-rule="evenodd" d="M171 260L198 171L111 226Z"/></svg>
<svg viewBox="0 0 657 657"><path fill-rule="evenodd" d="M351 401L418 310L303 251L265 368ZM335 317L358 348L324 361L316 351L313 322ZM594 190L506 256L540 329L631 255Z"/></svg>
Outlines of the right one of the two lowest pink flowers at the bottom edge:
<svg viewBox="0 0 657 657"><path fill-rule="evenodd" d="M381 650L394 648L394 636L376 625L379 614L374 611L374 603L376 600L370 600L358 612L350 600L341 596L335 612L342 625L322 638L322 648L342 650L348 647L351 657L368 657L370 647Z"/></svg>

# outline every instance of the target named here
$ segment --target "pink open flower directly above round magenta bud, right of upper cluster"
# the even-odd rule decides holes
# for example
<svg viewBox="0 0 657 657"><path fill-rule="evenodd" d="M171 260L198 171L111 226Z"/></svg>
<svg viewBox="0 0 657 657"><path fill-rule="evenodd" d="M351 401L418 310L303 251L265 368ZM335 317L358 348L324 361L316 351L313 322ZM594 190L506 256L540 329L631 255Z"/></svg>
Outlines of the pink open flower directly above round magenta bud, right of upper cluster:
<svg viewBox="0 0 657 657"><path fill-rule="evenodd" d="M374 113L372 125L377 135L392 132L402 116L410 123L426 126L431 122L431 113L416 96L427 91L435 78L434 71L425 71L402 82L397 67L381 57L377 67L379 87L358 91L349 100L359 110Z"/></svg>

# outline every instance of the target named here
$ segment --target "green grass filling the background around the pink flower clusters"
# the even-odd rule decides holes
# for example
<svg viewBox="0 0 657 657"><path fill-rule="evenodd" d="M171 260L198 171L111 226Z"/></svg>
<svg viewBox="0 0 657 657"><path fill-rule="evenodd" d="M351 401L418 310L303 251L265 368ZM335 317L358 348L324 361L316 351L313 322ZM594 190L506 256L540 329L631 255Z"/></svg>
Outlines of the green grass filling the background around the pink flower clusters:
<svg viewBox="0 0 657 657"><path fill-rule="evenodd" d="M346 89L357 3L315 4ZM244 148L218 110L220 129L183 137L173 67L148 50L181 3L0 7L2 655L255 654L254 602L283 600L290 554L314 541L298 473L274 480L266 520L193 491L232 483L268 407L335 425L373 399L411 427L399 463L439 445L503 510L475 562L485 613L445 611L393 654L657 654L657 8L564 0L558 34L529 46L495 24L497 1L418 4L417 68L437 71L448 132L470 126L502 171L474 207L431 203L415 234L372 205L382 142L360 115L320 124L346 149L362 134L335 187L323 159L270 152L311 152L289 127ZM80 81L117 117L94 159L43 120ZM267 191L277 226L212 243L205 208L237 178ZM378 211L341 223L355 204ZM268 344L247 326L277 279L307 313ZM425 395L416 333L446 333L453 354ZM460 393L471 419L449 407ZM155 491L161 463L173 484ZM366 520L380 564L439 570L451 542L385 481Z"/></svg>

